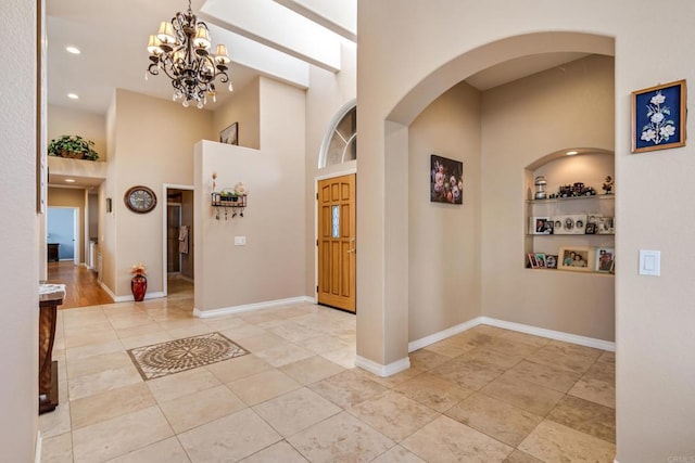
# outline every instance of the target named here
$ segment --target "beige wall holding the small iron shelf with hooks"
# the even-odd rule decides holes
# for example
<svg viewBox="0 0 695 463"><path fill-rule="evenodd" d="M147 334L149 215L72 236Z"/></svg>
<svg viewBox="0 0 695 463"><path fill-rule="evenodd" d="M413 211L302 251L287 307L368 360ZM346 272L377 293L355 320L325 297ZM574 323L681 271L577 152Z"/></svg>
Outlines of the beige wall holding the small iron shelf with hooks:
<svg viewBox="0 0 695 463"><path fill-rule="evenodd" d="M261 78L261 150L195 145L195 309L207 311L304 296L304 92ZM287 124L292 120L293 124ZM244 217L219 220L217 191L243 182ZM235 246L245 236L245 246Z"/></svg>

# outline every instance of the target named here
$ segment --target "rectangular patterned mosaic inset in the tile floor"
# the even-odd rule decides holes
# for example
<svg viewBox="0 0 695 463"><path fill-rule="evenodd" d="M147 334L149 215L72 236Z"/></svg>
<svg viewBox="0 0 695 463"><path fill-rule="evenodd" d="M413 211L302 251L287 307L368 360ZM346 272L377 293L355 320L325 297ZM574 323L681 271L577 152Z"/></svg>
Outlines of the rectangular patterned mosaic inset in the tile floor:
<svg viewBox="0 0 695 463"><path fill-rule="evenodd" d="M129 349L128 355L144 381L179 373L249 353L219 333L202 334Z"/></svg>

